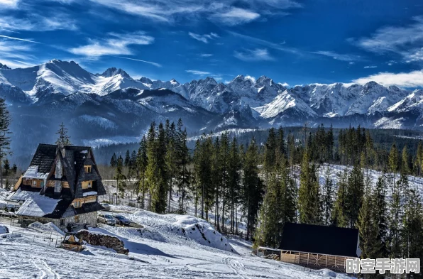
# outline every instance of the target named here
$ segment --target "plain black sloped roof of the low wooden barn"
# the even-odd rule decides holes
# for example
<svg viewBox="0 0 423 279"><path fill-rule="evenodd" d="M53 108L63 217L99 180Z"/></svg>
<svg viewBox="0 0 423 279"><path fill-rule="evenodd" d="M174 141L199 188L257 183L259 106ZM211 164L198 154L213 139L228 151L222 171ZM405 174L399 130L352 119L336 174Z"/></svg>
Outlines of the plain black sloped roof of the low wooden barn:
<svg viewBox="0 0 423 279"><path fill-rule="evenodd" d="M287 223L281 250L357 257L358 229Z"/></svg>

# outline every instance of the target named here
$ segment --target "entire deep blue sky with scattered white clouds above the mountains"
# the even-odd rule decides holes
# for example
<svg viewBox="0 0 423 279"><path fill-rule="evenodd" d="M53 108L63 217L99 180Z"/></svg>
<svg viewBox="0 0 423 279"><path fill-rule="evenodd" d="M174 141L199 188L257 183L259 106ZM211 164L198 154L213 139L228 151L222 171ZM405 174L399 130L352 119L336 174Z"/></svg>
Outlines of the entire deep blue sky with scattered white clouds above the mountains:
<svg viewBox="0 0 423 279"><path fill-rule="evenodd" d="M0 62L75 60L179 82L423 86L414 0L0 0Z"/></svg>

